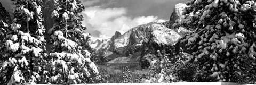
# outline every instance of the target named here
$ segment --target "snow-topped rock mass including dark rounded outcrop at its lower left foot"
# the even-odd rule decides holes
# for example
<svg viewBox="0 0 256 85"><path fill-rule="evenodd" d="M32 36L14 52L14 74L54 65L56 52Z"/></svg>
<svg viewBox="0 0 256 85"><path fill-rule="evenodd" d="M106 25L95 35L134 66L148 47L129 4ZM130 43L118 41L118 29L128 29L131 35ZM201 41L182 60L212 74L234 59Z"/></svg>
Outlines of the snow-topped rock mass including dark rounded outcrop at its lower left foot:
<svg viewBox="0 0 256 85"><path fill-rule="evenodd" d="M173 54L173 45L177 43L179 38L181 38L181 36L173 30L164 29L164 27L157 28L158 31L154 30L151 33L153 35L150 35L148 38L145 38L145 40L143 40L141 51L142 57L140 61L140 65L142 68L147 68L152 64L150 62L154 62L154 59L156 59L156 57L153 55L157 54L157 50L165 52L166 54Z"/></svg>

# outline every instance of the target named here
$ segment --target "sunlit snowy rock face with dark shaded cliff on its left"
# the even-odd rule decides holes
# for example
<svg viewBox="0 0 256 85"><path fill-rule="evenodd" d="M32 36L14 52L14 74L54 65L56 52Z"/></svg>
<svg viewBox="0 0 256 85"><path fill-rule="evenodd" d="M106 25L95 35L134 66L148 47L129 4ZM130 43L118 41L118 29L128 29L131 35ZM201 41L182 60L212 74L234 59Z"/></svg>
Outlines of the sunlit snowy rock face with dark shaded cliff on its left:
<svg viewBox="0 0 256 85"><path fill-rule="evenodd" d="M145 38L142 43L141 56L148 53L156 54L157 50L165 50L166 53L173 52L173 45L177 43L181 36L171 29L167 29L162 25L152 25L152 30L148 38Z"/></svg>

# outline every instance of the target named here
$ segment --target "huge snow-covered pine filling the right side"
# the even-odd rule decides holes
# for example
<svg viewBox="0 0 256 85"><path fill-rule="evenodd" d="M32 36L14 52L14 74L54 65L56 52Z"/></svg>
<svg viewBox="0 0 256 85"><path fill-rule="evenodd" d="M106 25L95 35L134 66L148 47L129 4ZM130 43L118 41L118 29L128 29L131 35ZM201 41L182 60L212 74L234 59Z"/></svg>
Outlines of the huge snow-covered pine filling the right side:
<svg viewBox="0 0 256 85"><path fill-rule="evenodd" d="M187 5L188 17L180 25L196 31L181 43L199 65L197 81L255 84L255 1L191 0Z"/></svg>

